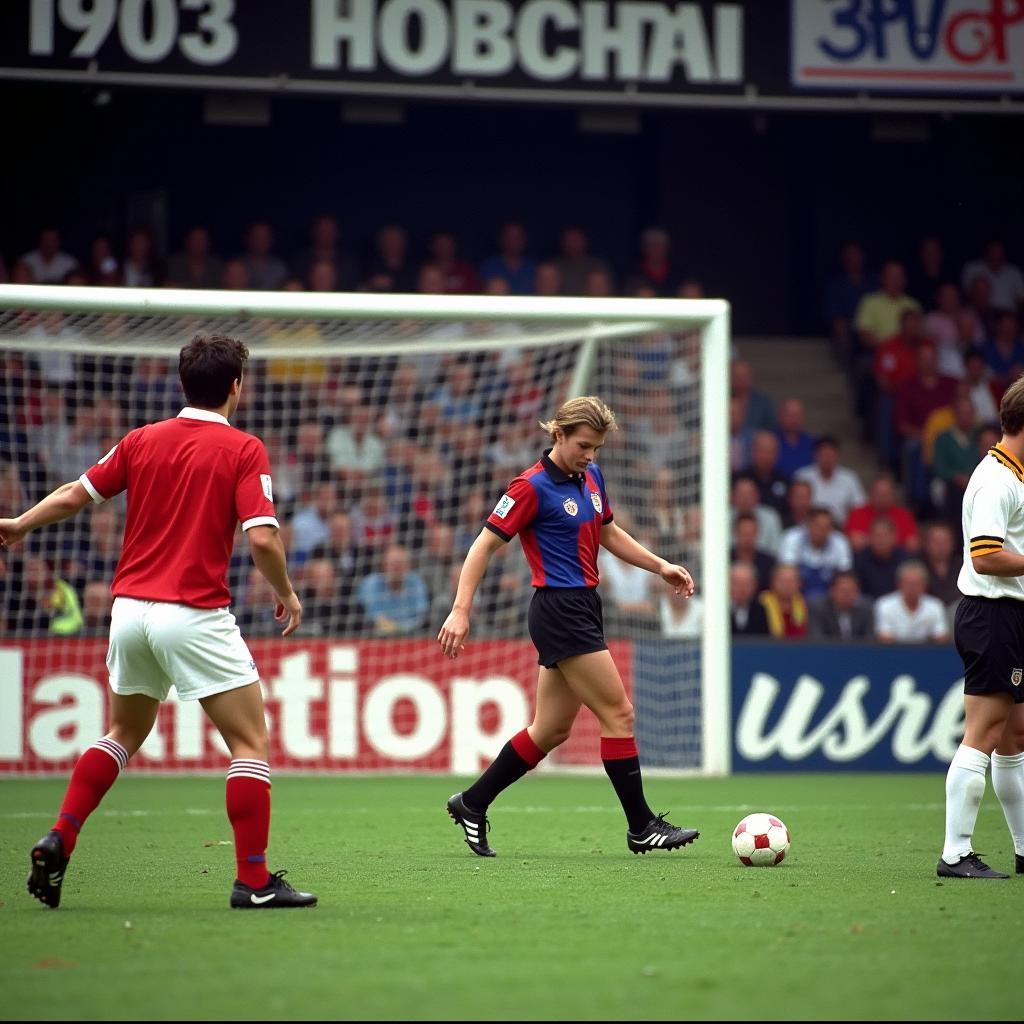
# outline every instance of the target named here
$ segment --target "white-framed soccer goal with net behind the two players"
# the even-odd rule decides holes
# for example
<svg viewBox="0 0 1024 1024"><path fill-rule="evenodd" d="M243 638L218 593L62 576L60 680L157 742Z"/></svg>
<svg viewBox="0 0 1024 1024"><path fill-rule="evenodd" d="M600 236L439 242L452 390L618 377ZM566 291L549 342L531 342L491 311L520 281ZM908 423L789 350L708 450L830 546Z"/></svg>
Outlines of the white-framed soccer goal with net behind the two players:
<svg viewBox="0 0 1024 1024"><path fill-rule="evenodd" d="M275 767L473 774L529 720L537 654L518 541L494 558L456 660L434 638L469 545L548 446L539 421L598 394L616 521L697 596L602 551L601 595L648 767L729 767L726 376L717 300L302 295L0 286L0 515L75 480L184 404L198 332L249 347L234 425L262 438L305 607L283 640L241 532L232 611L259 667ZM0 771L63 771L105 728L110 585L125 497L0 554ZM175 514L181 509L167 495ZM173 693L173 691L172 691ZM581 713L550 768L599 765ZM168 701L133 765L224 750Z"/></svg>

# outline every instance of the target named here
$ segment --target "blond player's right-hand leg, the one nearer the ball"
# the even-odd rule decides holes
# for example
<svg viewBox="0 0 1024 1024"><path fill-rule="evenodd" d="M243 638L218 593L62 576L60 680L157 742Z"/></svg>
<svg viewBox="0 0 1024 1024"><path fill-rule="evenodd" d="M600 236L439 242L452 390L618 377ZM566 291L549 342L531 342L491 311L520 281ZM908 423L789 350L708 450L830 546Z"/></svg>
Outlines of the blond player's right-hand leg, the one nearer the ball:
<svg viewBox="0 0 1024 1024"><path fill-rule="evenodd" d="M572 692L601 723L601 761L629 822L629 849L647 853L692 843L699 836L696 829L677 828L665 820L665 814L655 816L647 805L633 734L633 705L611 654L606 650L577 654L559 663L558 668Z"/></svg>

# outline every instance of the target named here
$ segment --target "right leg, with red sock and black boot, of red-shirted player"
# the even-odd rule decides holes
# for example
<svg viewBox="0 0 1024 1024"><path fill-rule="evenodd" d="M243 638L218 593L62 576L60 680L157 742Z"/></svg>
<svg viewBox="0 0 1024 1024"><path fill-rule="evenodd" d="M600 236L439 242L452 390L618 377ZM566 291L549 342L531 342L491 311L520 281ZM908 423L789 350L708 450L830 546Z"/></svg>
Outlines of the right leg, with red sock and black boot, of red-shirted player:
<svg viewBox="0 0 1024 1024"><path fill-rule="evenodd" d="M315 906L312 893L297 892L285 871L266 868L270 835L269 738L259 681L204 697L203 710L231 752L227 770L227 817L234 833L236 909Z"/></svg>

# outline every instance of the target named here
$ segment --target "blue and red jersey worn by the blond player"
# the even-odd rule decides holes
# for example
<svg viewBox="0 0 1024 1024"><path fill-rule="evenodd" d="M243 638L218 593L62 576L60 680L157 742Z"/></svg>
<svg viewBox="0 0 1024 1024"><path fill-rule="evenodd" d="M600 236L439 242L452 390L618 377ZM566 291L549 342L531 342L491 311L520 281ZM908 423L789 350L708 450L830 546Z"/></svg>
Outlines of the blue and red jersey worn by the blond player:
<svg viewBox="0 0 1024 1024"><path fill-rule="evenodd" d="M484 525L506 542L519 535L535 587L596 587L601 527L611 519L597 464L570 476L545 452L508 485Z"/></svg>

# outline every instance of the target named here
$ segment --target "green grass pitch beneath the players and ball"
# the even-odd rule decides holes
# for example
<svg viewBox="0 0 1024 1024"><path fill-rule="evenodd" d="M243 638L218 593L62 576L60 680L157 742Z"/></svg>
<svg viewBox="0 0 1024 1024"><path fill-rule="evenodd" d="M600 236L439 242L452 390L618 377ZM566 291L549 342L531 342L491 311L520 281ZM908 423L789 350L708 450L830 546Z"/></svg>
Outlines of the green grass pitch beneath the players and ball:
<svg viewBox="0 0 1024 1024"><path fill-rule="evenodd" d="M529 778L495 860L444 814L458 780L279 776L270 866L321 897L282 912L227 908L221 780L130 775L44 908L28 851L62 788L0 781L7 1019L1020 1017L1024 876L939 884L940 775L650 779L701 837L645 857L605 779ZM790 826L777 868L732 855L752 810ZM1013 869L991 795L976 843Z"/></svg>

